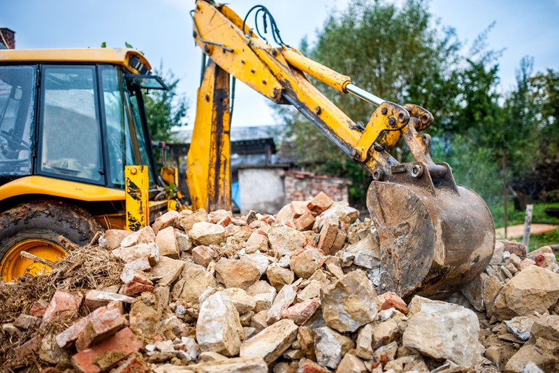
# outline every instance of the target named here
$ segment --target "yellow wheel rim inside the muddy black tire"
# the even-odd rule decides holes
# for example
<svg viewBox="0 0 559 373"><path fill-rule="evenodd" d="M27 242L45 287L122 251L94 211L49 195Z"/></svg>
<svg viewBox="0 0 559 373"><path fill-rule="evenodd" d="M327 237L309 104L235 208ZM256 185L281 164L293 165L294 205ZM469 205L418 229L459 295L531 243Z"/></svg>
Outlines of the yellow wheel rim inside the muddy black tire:
<svg viewBox="0 0 559 373"><path fill-rule="evenodd" d="M33 276L46 274L52 270L48 265L34 262L31 259L21 258L20 253L38 256L50 262L58 262L66 255L61 246L45 239L26 239L12 246L0 262L0 271L3 281L13 281L16 277L29 273Z"/></svg>

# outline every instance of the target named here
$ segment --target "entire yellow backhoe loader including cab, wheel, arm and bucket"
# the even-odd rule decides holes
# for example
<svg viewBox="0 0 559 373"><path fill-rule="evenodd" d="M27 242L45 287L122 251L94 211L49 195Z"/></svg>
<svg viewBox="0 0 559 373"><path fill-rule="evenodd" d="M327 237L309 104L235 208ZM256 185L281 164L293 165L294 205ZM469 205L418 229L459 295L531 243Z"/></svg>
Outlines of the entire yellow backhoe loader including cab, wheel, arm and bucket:
<svg viewBox="0 0 559 373"><path fill-rule="evenodd" d="M198 0L191 12L194 39L204 57L196 122L187 157L192 209L228 209L231 205L229 98L230 80L238 79L276 104L292 105L371 175L367 205L381 246L383 290L394 291L405 299L414 294L440 297L474 279L491 260L495 246L493 218L481 197L456 185L448 164L431 159L430 136L419 131L433 124L433 115L414 104L400 106L362 90L348 76L286 45L266 8L256 6L251 11L268 17L277 47L270 45L258 28L249 28L247 18L242 20L228 6ZM0 94L3 92L8 101L15 101L8 102L6 107L17 112L11 130L1 128L0 120L0 141L6 157L0 167L9 167L6 181L0 187L0 269L5 280L29 271L29 262L10 267L10 258L27 250L27 244L31 248L36 245L36 229L60 232L58 225L66 225L66 237L84 243L98 228L99 220L94 216L105 222L110 216L124 218L126 183L121 176L125 165L147 166L151 169L150 185L157 186L140 88L153 88L159 80L149 78L149 64L133 50L115 52L120 53L115 59L96 52L99 50L89 50L89 55L71 61L61 61L56 52L49 55L48 51L34 59L0 59L0 83L5 85L0 87ZM0 51L0 57L4 53L7 52ZM9 78L5 78L1 69L21 70L8 73ZM75 74L68 75L64 69ZM89 75L80 77L78 72L82 70L89 71ZM21 83L15 78L24 73L28 76L25 89L29 92L24 90L24 78L20 78ZM367 125L351 120L307 76L376 106ZM64 95L57 94L57 87L64 85L71 85L70 92L60 97ZM51 90L53 93L49 93ZM89 94L89 112L76 109L87 100L82 97L87 96L83 90ZM115 92L114 97L107 99L106 92ZM71 138L60 132L50 134L48 118L70 122L61 111L47 113L49 106L64 99L73 102L66 109L75 111L73 115L82 115L72 123L82 124L84 129L80 133L87 135ZM1 105L0 99L0 108ZM15 109L10 105L15 105ZM1 112L0 115L2 118ZM112 117L117 128L116 141L111 136ZM31 124L24 127L26 121ZM93 137L96 140L86 132L90 127L99 132L98 137ZM71 140L61 144L61 139ZM405 141L415 162L400 163L390 155L400 139ZM58 141L57 146L48 146L48 141ZM129 147L122 146L126 141L130 141ZM88 153L74 160L68 156L71 148L66 148L76 144ZM111 155L115 148L120 150L114 154L122 157ZM58 204L64 204L64 208ZM70 211L72 217L80 218L61 219L59 211ZM3 232L12 232L12 225L21 227L20 222L33 221L36 215L54 218L47 227L29 225L32 230L27 230L23 237L20 233L11 236L17 238L16 246L6 246ZM73 229L75 232L70 233ZM64 251L52 239L52 232L49 234L41 241L46 248L40 246L36 255L41 250L52 253L53 244ZM5 275L5 267L10 274Z"/></svg>

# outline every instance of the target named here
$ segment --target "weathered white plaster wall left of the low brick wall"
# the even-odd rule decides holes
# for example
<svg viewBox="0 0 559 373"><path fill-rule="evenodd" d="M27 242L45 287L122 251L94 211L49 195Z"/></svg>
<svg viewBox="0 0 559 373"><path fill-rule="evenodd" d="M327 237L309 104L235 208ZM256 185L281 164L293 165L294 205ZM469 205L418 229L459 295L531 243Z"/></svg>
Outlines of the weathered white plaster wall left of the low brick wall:
<svg viewBox="0 0 559 373"><path fill-rule="evenodd" d="M240 213L277 213L285 205L283 168L239 169Z"/></svg>

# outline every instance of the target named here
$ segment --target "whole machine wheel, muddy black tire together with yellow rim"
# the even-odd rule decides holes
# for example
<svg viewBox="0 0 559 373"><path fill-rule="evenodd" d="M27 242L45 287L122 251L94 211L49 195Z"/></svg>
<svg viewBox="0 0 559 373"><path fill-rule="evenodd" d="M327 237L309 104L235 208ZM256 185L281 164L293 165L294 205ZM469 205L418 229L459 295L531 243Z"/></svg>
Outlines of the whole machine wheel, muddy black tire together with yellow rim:
<svg viewBox="0 0 559 373"><path fill-rule="evenodd" d="M96 218L78 206L59 201L20 204L0 214L0 275L2 281L13 281L29 272L38 275L50 267L20 253L27 251L49 262L66 255L64 236L78 246L85 246L103 228Z"/></svg>

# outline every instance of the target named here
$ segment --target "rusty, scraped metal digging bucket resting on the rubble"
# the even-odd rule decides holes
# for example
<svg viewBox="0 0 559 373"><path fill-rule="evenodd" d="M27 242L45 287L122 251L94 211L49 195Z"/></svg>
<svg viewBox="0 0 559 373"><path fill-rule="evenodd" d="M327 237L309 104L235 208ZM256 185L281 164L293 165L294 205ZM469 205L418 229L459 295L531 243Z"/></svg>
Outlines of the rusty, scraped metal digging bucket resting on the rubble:
<svg viewBox="0 0 559 373"><path fill-rule="evenodd" d="M444 297L472 281L493 255L495 228L485 202L425 164L398 164L373 181L367 205L381 246L380 287L404 300ZM419 167L419 168L418 168ZM417 170L423 170L418 178Z"/></svg>

